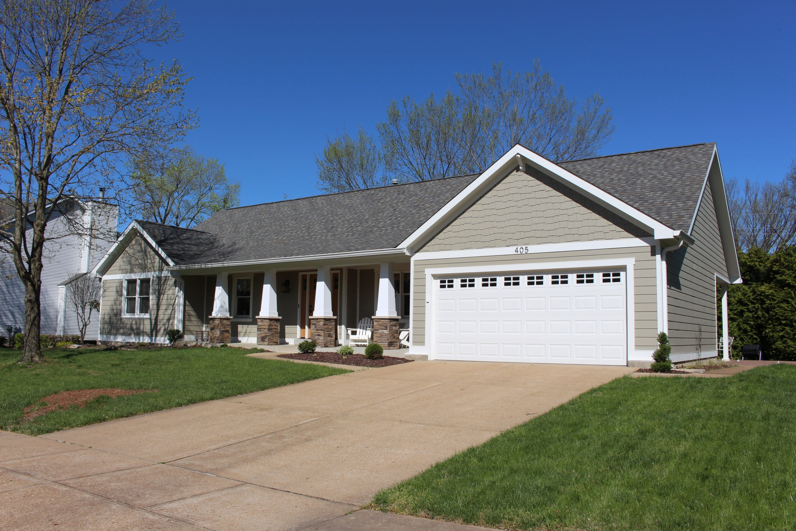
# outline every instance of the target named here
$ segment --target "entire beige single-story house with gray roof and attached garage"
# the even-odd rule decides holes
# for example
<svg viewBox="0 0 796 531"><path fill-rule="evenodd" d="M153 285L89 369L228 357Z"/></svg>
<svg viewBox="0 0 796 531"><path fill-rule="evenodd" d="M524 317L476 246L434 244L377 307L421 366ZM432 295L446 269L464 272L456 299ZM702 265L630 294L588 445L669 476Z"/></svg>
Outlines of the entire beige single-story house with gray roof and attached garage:
<svg viewBox="0 0 796 531"><path fill-rule="evenodd" d="M659 331L674 361L715 357L716 289L740 282L712 143L514 146L478 175L134 222L95 274L103 341L330 347L373 318L429 359L602 365L648 364Z"/></svg>

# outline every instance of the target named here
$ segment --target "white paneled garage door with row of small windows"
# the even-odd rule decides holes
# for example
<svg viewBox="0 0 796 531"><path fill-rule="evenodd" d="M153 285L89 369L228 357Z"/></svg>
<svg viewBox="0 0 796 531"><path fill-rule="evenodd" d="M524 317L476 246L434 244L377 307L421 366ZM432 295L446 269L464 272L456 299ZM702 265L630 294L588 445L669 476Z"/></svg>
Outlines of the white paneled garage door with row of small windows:
<svg viewBox="0 0 796 531"><path fill-rule="evenodd" d="M626 365L624 271L436 276L444 360Z"/></svg>

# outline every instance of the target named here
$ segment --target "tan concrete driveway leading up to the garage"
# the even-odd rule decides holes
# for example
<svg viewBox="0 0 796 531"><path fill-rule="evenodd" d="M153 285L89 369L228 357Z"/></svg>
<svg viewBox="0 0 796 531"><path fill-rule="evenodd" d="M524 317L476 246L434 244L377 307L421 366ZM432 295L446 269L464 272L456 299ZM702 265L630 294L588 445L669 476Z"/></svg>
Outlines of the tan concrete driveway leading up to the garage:
<svg viewBox="0 0 796 531"><path fill-rule="evenodd" d="M41 437L0 431L0 521L61 531L349 529L329 522L633 370L416 361ZM436 529L428 522L422 529Z"/></svg>

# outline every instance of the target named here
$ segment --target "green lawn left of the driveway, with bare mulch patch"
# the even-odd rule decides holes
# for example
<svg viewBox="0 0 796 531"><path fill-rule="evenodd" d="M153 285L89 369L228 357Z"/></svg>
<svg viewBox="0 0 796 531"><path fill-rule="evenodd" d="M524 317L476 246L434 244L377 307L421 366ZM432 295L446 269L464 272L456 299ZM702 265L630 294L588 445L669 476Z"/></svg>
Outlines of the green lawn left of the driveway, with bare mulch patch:
<svg viewBox="0 0 796 531"><path fill-rule="evenodd" d="M20 352L0 349L0 428L40 435L124 416L348 373L322 365L246 357L243 349L50 349L45 361L17 365ZM22 410L43 396L75 389L158 389L98 397L19 424Z"/></svg>

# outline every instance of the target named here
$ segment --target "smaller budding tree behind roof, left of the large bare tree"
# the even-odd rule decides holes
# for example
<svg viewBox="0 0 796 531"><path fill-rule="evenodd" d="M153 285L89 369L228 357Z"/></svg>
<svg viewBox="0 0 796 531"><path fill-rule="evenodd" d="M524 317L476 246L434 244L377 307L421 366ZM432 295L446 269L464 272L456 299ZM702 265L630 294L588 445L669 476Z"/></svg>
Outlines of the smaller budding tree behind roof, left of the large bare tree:
<svg viewBox="0 0 796 531"><path fill-rule="evenodd" d="M322 192L339 192L373 188L386 184L380 175L381 153L362 126L357 137L352 138L348 131L334 139L326 137L326 147L322 156L315 155L318 166L318 189Z"/></svg>

